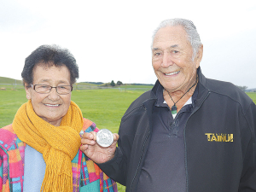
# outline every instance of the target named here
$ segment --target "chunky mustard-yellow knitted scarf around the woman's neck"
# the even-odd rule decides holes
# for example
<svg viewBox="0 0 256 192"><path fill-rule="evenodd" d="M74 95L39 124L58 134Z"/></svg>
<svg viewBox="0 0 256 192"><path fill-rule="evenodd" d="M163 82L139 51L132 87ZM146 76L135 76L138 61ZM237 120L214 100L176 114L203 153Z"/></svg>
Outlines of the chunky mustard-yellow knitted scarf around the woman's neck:
<svg viewBox="0 0 256 192"><path fill-rule="evenodd" d="M13 128L22 142L43 154L46 169L41 191L73 191L71 160L78 153L83 128L79 106L71 102L61 125L54 126L38 117L29 101L17 111Z"/></svg>

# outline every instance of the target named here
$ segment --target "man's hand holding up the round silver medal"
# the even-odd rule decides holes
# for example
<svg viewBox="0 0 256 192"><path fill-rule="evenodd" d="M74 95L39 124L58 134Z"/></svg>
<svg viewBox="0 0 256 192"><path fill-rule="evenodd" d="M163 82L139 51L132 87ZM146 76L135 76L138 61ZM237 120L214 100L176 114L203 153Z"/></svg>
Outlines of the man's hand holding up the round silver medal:
<svg viewBox="0 0 256 192"><path fill-rule="evenodd" d="M119 139L119 135L117 133L113 133L113 143L108 148L103 148L98 143L96 143L96 132L84 132L84 135L81 139L82 146L80 147L81 151L93 160L96 163L105 163L108 160L112 160L116 143Z"/></svg>

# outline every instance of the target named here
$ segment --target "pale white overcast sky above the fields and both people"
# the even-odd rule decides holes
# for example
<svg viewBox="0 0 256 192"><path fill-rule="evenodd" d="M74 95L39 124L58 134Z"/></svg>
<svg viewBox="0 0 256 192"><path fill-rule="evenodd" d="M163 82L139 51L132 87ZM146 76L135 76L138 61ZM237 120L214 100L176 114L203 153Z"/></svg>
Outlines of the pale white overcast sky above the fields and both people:
<svg viewBox="0 0 256 192"><path fill-rule="evenodd" d="M160 21L192 20L207 78L256 88L255 0L0 0L0 76L21 79L42 44L71 51L78 82L154 84L151 37Z"/></svg>

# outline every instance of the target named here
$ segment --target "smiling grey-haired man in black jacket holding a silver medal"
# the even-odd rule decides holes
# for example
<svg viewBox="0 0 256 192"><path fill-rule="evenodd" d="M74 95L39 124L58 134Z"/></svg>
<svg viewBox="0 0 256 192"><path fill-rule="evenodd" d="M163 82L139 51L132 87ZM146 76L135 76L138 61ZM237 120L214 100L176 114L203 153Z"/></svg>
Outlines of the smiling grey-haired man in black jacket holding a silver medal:
<svg viewBox="0 0 256 192"><path fill-rule="evenodd" d="M190 20L163 21L152 44L158 80L123 116L119 147L84 134L82 151L126 191L256 191L256 106L235 85L205 78L202 52Z"/></svg>

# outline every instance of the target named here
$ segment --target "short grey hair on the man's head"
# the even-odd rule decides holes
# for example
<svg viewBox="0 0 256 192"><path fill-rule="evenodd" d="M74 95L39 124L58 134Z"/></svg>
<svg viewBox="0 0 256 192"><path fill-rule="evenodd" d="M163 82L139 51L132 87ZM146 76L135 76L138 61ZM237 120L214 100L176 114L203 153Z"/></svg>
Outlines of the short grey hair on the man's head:
<svg viewBox="0 0 256 192"><path fill-rule="evenodd" d="M156 28L154 31L153 37L152 37L152 45L154 42L154 36L156 32L160 30L160 28L166 27L166 26L183 26L184 30L188 34L188 40L193 48L193 60L195 58L195 55L198 52L198 49L201 47L201 39L199 37L198 32L196 31L196 27L194 23L191 20L185 20L180 18L175 18L171 20L163 20L160 25Z"/></svg>

